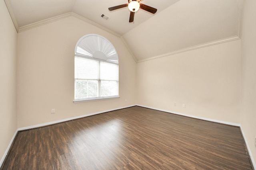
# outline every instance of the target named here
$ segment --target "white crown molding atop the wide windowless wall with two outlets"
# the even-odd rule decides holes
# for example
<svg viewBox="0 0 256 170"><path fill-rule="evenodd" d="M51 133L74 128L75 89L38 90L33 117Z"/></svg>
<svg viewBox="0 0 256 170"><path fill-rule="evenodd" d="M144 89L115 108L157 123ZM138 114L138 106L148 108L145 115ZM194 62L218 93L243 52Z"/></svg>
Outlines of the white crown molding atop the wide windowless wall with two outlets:
<svg viewBox="0 0 256 170"><path fill-rule="evenodd" d="M233 36L233 37L229 37L229 38L225 38L225 39L220 39L220 40L212 41L212 42L209 42L209 43L204 43L204 44L195 45L195 46L192 46L192 47L172 51L170 53L165 53L165 54L158 55L158 56L155 56L155 57L151 57L151 58L148 58L148 59L138 60L137 63L142 63L142 62L145 62L145 61L159 59L159 58L162 58L162 57L166 57L166 56L170 56L170 55L174 55L174 54L178 54L178 53L183 53L183 52L191 51L191 50L195 50L195 49L200 49L200 48L204 48L204 47L208 47L208 46L216 45L216 44L220 44L220 43L226 43L226 42L234 41L234 40L238 40L238 39L240 39L240 37L238 37L238 36Z"/></svg>

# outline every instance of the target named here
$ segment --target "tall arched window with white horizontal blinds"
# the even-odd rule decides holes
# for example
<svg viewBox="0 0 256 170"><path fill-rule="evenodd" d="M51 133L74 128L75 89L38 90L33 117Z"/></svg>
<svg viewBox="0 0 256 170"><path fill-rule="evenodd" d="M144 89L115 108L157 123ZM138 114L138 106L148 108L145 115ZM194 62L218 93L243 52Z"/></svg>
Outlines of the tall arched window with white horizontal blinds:
<svg viewBox="0 0 256 170"><path fill-rule="evenodd" d="M84 35L75 47L74 102L118 97L116 49L100 35Z"/></svg>

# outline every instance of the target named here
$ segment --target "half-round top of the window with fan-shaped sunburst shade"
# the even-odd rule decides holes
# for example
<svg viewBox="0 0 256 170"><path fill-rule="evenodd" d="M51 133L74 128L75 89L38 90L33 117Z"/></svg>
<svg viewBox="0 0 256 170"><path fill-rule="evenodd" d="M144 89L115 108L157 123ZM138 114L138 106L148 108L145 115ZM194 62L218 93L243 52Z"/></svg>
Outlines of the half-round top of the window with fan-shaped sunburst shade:
<svg viewBox="0 0 256 170"><path fill-rule="evenodd" d="M75 56L118 63L118 55L112 43L97 34L81 37L76 43Z"/></svg>

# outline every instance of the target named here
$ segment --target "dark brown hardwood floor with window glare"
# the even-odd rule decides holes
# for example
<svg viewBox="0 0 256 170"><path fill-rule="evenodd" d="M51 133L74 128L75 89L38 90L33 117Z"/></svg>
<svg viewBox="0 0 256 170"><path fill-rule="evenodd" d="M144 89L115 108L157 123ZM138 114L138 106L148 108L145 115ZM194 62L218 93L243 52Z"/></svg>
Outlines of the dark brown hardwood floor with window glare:
<svg viewBox="0 0 256 170"><path fill-rule="evenodd" d="M130 107L20 131L2 170L252 170L239 127Z"/></svg>

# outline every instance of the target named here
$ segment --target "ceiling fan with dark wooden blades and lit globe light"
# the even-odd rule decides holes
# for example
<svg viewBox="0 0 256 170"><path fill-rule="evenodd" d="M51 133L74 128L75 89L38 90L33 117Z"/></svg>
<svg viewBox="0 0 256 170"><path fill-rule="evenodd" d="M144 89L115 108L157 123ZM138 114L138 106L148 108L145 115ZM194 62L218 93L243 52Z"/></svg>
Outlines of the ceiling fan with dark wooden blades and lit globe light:
<svg viewBox="0 0 256 170"><path fill-rule="evenodd" d="M118 5L118 6L113 6L113 7L108 8L108 10L113 11L113 10L117 10L117 9L124 8L124 7L128 6L128 8L130 10L129 22L133 22L133 20L134 20L134 13L136 11L138 11L139 8L142 9L142 10L148 11L148 12L150 12L152 14L156 13L156 11L157 11L156 8L153 8L151 6L147 6L145 4L140 4L140 1L141 0L128 0L128 4L122 4L122 5Z"/></svg>

